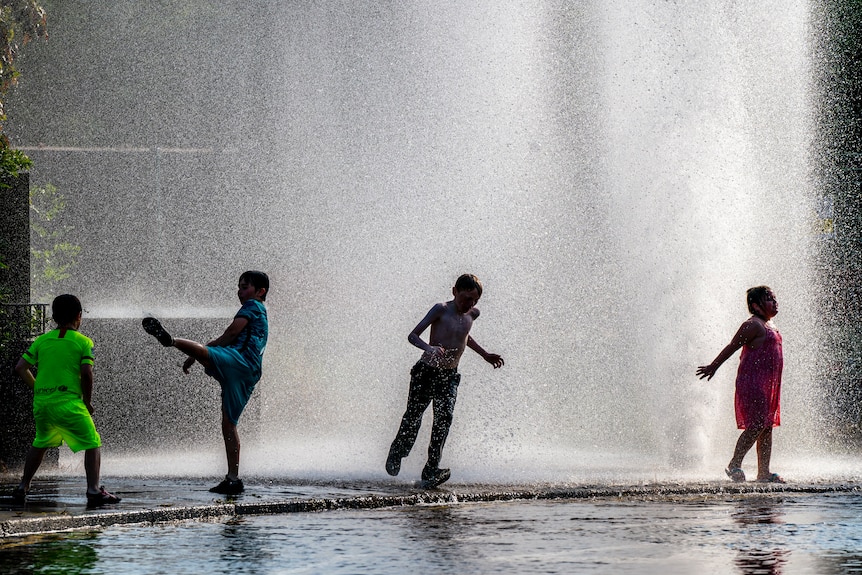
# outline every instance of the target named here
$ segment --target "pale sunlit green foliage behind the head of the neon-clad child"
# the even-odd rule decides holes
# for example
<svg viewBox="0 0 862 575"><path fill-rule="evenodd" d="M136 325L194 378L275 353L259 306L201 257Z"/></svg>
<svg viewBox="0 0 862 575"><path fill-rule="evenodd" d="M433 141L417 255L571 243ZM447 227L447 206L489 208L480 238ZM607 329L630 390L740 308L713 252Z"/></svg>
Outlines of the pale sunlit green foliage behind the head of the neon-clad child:
<svg viewBox="0 0 862 575"><path fill-rule="evenodd" d="M30 189L30 291L47 301L53 287L70 276L81 247L64 240L72 229L61 221L63 194L51 184Z"/></svg>

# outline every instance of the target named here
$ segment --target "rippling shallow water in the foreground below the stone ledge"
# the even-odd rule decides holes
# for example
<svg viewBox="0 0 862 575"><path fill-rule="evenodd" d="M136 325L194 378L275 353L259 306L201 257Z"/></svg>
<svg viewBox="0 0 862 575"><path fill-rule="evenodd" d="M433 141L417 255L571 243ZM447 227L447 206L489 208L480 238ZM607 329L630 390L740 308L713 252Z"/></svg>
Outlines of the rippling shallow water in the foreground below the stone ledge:
<svg viewBox="0 0 862 575"><path fill-rule="evenodd" d="M4 573L862 573L862 495L516 501L118 526Z"/></svg>

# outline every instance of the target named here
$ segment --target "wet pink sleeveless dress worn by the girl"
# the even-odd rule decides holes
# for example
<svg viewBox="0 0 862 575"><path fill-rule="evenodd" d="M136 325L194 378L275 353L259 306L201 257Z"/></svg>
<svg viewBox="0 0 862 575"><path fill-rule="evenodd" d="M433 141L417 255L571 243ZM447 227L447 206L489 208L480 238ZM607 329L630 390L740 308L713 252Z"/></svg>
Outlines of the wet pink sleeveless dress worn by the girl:
<svg viewBox="0 0 862 575"><path fill-rule="evenodd" d="M736 372L736 426L765 429L781 424L781 334L766 325L766 340L757 349L742 348Z"/></svg>

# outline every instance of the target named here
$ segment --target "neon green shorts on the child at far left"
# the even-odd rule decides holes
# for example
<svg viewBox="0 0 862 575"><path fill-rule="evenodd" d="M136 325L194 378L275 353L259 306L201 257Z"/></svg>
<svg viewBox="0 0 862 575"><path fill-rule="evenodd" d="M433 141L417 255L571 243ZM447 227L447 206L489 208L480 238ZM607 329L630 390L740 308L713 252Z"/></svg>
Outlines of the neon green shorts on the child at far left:
<svg viewBox="0 0 862 575"><path fill-rule="evenodd" d="M102 446L102 438L81 399L34 405L33 418L36 420L33 447L60 447L65 441L69 449L77 453Z"/></svg>

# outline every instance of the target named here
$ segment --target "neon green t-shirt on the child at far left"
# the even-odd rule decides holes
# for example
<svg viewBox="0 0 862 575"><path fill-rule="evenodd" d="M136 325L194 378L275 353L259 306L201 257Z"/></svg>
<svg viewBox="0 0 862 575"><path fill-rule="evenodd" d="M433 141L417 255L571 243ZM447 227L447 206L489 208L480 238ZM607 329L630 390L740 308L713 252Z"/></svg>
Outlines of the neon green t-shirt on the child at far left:
<svg viewBox="0 0 862 575"><path fill-rule="evenodd" d="M70 393L81 397L81 366L93 365L93 340L72 329L55 329L37 337L22 357L38 368L34 403Z"/></svg>

